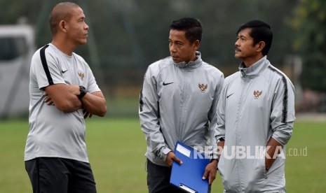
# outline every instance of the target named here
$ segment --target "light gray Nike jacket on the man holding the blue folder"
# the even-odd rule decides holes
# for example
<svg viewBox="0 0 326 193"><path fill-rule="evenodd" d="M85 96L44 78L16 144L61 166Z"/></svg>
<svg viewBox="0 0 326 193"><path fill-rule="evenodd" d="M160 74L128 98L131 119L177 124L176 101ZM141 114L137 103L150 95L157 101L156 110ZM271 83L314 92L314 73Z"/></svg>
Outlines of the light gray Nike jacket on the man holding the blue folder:
<svg viewBox="0 0 326 193"><path fill-rule="evenodd" d="M189 146L215 143L216 108L224 75L203 62L175 64L171 57L151 64L140 93L140 125L147 141L145 156L167 166L168 152L181 141ZM214 126L213 126L214 125Z"/></svg>

